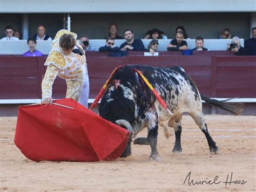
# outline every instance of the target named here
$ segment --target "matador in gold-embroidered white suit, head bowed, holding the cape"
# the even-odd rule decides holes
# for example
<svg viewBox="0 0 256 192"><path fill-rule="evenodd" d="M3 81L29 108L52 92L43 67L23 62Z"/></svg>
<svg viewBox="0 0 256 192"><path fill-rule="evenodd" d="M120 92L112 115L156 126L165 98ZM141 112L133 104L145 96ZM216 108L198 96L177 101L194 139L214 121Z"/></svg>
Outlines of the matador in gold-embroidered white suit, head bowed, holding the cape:
<svg viewBox="0 0 256 192"><path fill-rule="evenodd" d="M66 80L66 98L72 98L88 107L89 77L85 52L75 40L76 38L76 33L60 30L53 39L52 49L44 63L47 69L42 81L42 103L51 104L52 85L55 78L59 76ZM71 42L71 45L66 45L66 42ZM65 46L68 46L68 49L65 49Z"/></svg>

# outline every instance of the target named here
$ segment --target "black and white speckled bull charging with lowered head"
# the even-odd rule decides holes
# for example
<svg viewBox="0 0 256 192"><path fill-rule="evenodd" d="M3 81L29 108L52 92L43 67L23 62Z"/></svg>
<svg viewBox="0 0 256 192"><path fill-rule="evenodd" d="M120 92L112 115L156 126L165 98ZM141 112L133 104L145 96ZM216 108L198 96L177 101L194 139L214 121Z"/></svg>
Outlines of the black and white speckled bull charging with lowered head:
<svg viewBox="0 0 256 192"><path fill-rule="evenodd" d="M134 68L141 71L160 97L165 101L169 111L164 109L153 92L139 77ZM114 74L99 105L99 115L104 119L130 131L130 139L121 155L131 155L131 141L147 127L147 138L137 138L134 144L150 145L151 160L160 161L157 151L158 125L175 129L176 141L172 152L181 152L181 113L187 112L201 131L205 134L211 153L217 153L218 147L208 132L202 113L202 102L223 108L226 111L239 113L226 102L208 99L200 95L193 80L181 67L151 67L126 65Z"/></svg>

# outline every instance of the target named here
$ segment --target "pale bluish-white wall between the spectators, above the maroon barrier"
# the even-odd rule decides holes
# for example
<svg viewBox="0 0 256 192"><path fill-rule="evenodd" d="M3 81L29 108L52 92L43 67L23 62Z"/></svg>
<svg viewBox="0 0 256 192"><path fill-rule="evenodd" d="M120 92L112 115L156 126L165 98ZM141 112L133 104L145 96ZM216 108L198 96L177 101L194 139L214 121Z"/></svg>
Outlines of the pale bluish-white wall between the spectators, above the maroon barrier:
<svg viewBox="0 0 256 192"><path fill-rule="evenodd" d="M159 39L158 51L167 51L167 44L172 39ZM241 40L241 45L244 46L244 39ZM105 46L105 39L91 39L90 44L99 50L99 47ZM145 49L149 45L151 39L142 39ZM120 46L125 40L115 40L115 45ZM186 39L188 49L195 47L195 39ZM204 39L204 46L211 51L224 51L226 50L227 44L231 42L231 39ZM51 41L37 41L36 49L41 51L43 54L49 54L51 51ZM0 54L23 54L28 51L28 45L26 40L18 41L4 41L0 40Z"/></svg>

